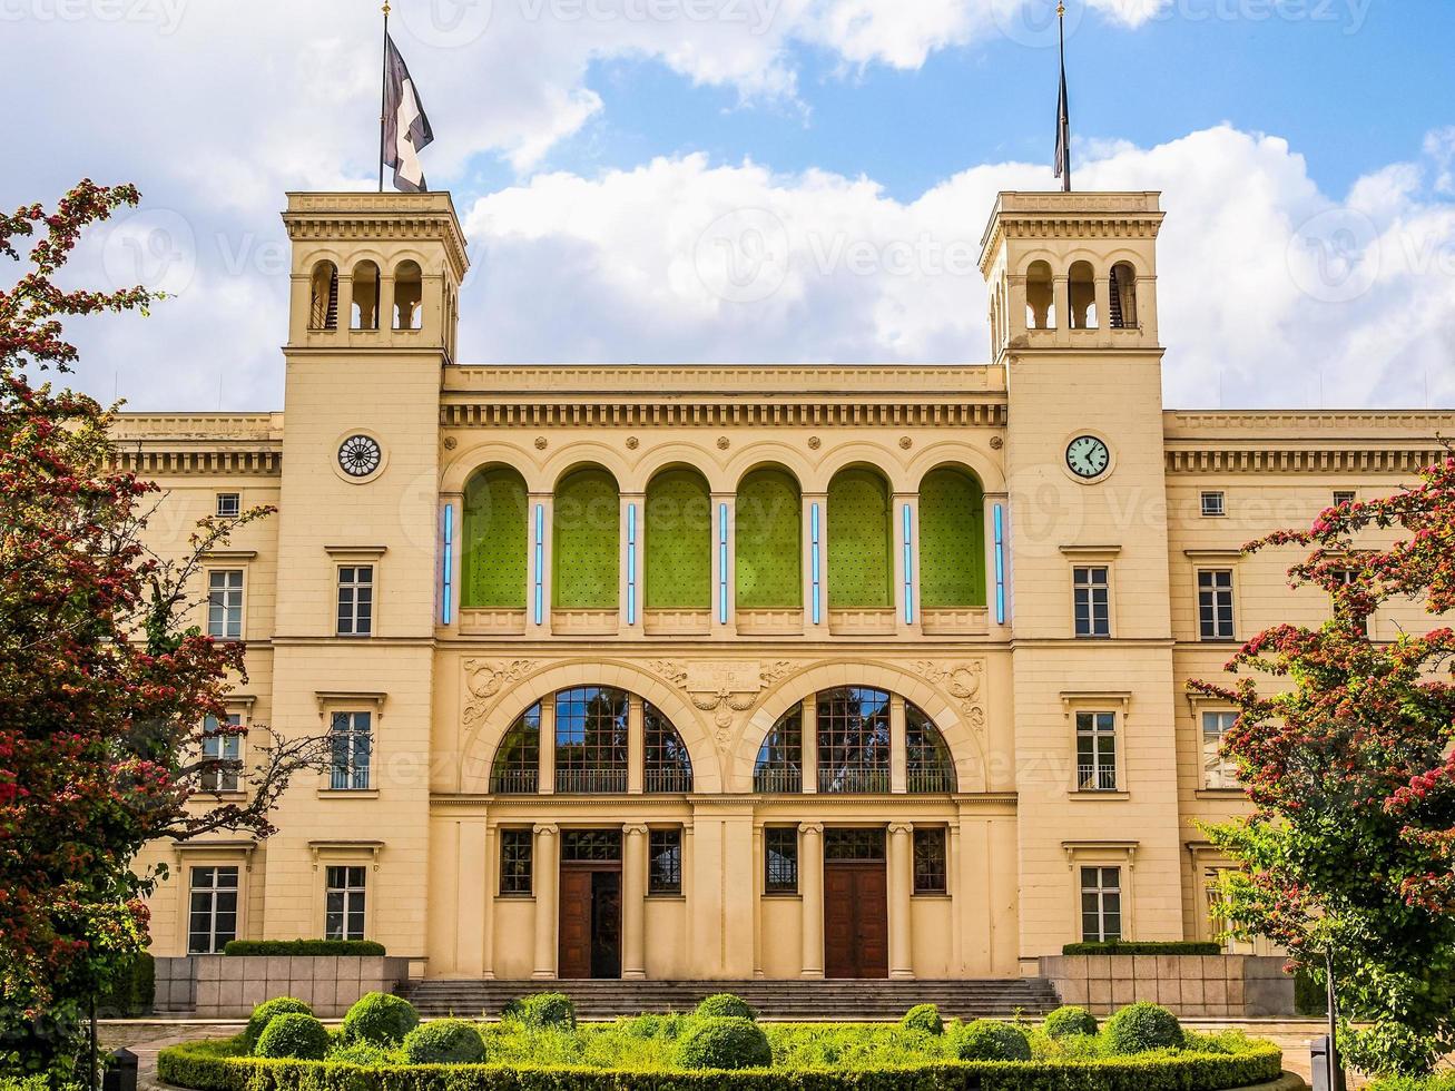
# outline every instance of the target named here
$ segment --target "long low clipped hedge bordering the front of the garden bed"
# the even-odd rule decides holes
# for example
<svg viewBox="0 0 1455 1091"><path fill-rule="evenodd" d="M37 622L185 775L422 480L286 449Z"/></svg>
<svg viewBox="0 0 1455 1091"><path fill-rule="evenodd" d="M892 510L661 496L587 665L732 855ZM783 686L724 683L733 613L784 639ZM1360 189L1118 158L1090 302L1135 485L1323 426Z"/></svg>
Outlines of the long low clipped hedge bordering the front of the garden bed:
<svg viewBox="0 0 1455 1091"><path fill-rule="evenodd" d="M853 1072L746 1069L742 1072L623 1072L591 1068L358 1068L330 1062L237 1056L233 1042L189 1042L163 1049L157 1075L196 1091L1225 1091L1279 1078L1283 1053L1261 1044L1247 1053L1115 1058L1067 1062L946 1062Z"/></svg>

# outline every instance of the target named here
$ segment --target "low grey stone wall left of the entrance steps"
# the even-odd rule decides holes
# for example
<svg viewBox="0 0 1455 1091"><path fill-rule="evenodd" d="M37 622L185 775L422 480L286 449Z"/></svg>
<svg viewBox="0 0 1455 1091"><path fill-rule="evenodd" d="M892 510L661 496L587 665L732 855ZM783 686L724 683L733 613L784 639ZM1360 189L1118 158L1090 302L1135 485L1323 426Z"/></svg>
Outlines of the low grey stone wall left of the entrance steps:
<svg viewBox="0 0 1455 1091"><path fill-rule="evenodd" d="M246 1018L265 999L294 996L319 1018L338 1018L367 992L393 992L407 970L407 959L384 956L157 959L156 1010Z"/></svg>

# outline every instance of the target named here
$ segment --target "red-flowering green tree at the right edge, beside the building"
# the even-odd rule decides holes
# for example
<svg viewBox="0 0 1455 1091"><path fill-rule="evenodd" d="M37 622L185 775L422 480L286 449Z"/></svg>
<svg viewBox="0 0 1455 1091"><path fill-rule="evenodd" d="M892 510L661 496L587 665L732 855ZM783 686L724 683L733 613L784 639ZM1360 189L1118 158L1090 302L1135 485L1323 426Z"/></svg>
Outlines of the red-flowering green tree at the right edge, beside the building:
<svg viewBox="0 0 1455 1091"><path fill-rule="evenodd" d="M1422 479L1251 543L1310 550L1291 583L1328 594L1333 618L1260 633L1228 665L1243 678L1192 685L1238 708L1224 752L1254 810L1209 831L1243 864L1235 931L1318 980L1330 953L1344 1058L1397 1074L1455 1049L1455 633L1368 634L1385 604L1455 608L1455 460ZM1395 544L1369 548L1369 531Z"/></svg>

